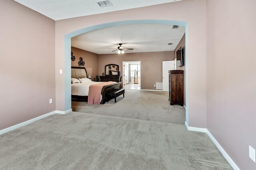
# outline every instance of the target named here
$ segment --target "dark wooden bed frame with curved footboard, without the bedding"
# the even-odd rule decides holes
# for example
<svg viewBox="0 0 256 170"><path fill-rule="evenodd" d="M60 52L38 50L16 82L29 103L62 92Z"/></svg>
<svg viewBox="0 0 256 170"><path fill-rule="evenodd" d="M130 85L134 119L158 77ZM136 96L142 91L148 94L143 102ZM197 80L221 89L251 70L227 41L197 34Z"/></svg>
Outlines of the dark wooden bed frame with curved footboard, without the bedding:
<svg viewBox="0 0 256 170"><path fill-rule="evenodd" d="M85 67L71 67L71 68L84 69L85 72L86 72L86 76L87 76L87 71L86 71ZM116 89L121 89L121 88L122 88L122 82L118 82L118 83L103 86L102 90L101 90L102 100L100 101L100 104L105 104L105 102L108 102L110 99L112 99L110 97L110 95L108 95L108 94L111 93L112 91L116 90ZM79 102L80 101L88 102L88 96L71 95L71 100L72 101L79 101Z"/></svg>

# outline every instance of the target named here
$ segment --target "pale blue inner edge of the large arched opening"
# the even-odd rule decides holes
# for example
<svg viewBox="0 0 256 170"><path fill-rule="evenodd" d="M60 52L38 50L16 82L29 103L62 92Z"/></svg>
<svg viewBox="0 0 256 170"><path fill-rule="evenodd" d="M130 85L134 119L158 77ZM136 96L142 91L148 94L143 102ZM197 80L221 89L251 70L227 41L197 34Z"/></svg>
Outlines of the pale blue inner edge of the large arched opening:
<svg viewBox="0 0 256 170"><path fill-rule="evenodd" d="M64 35L64 84L65 84L65 111L71 109L71 60L70 60L70 51L71 51L71 38L82 33L89 31L94 31L97 29L102 29L106 27L114 27L120 25L134 25L134 24L162 24L162 25L179 25L185 27L185 39L186 39L186 48L185 48L185 68L186 68L186 123L189 123L189 101L188 101L188 24L185 21L173 21L173 20L127 20L127 21L116 21L110 23L103 23L99 25L94 25L79 29L73 32L70 32Z"/></svg>

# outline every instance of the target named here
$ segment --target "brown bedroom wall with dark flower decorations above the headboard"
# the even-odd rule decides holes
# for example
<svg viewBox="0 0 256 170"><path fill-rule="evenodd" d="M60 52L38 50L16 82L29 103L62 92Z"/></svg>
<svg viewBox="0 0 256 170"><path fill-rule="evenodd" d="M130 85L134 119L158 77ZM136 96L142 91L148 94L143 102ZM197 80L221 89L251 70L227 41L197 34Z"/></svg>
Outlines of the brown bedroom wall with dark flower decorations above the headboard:
<svg viewBox="0 0 256 170"><path fill-rule="evenodd" d="M78 49L76 47L71 47L71 51L73 52L73 55L76 57L75 61L71 61L71 66L79 67L78 61L79 58L82 57L85 64L84 66L80 67L85 67L87 74L90 74L93 80L96 77L96 75L98 75L98 54Z"/></svg>

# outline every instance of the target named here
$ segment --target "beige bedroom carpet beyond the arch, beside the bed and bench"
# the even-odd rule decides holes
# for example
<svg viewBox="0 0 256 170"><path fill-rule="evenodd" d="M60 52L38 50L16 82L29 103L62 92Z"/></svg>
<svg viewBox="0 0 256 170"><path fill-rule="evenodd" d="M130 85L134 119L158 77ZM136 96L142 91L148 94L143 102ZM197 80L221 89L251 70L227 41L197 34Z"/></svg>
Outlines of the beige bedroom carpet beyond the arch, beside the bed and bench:
<svg viewBox="0 0 256 170"><path fill-rule="evenodd" d="M168 92L125 90L124 98L119 96L101 105L87 102L72 102L72 110L82 113L126 117L149 121L160 121L184 125L183 106L169 104Z"/></svg>

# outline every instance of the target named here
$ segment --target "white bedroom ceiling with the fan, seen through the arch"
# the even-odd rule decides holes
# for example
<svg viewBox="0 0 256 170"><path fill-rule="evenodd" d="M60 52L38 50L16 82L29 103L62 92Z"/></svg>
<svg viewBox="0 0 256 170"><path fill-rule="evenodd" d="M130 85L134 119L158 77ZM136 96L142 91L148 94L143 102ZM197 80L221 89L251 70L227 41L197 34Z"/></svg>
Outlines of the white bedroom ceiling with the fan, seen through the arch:
<svg viewBox="0 0 256 170"><path fill-rule="evenodd" d="M126 53L174 51L184 33L185 27L172 29L172 25L122 25L80 34L71 39L71 45L96 54L117 53L112 51L119 46L118 43L122 43L125 49L134 49Z"/></svg>

